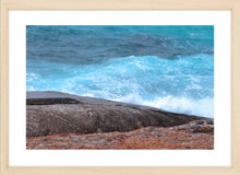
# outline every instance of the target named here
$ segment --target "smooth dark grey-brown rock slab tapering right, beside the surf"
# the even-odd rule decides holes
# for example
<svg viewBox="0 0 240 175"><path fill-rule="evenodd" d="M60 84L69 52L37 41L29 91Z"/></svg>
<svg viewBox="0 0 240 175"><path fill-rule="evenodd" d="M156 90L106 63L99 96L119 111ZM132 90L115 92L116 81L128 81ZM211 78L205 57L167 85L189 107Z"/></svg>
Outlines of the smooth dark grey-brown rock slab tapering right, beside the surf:
<svg viewBox="0 0 240 175"><path fill-rule="evenodd" d="M153 107L60 92L26 92L26 136L131 131L206 119Z"/></svg>

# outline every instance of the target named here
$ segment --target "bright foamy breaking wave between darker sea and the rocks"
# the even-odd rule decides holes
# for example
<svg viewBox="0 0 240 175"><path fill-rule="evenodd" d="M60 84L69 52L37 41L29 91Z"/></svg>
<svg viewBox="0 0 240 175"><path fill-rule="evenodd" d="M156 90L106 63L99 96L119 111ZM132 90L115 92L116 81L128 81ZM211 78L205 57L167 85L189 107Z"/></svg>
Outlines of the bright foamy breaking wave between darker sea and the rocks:
<svg viewBox="0 0 240 175"><path fill-rule="evenodd" d="M214 58L211 55L164 59L113 58L94 65L28 62L27 90L61 91L214 117ZM45 71L35 73L41 65ZM36 68L37 69L37 68ZM39 69L39 68L38 68Z"/></svg>

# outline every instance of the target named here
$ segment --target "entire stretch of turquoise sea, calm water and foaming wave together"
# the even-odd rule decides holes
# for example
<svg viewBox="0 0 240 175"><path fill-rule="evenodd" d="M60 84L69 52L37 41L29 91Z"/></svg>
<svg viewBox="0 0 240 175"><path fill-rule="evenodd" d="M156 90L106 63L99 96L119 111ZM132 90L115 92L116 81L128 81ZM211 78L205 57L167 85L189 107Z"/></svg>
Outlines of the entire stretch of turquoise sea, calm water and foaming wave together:
<svg viewBox="0 0 240 175"><path fill-rule="evenodd" d="M214 117L214 26L26 26L26 90Z"/></svg>

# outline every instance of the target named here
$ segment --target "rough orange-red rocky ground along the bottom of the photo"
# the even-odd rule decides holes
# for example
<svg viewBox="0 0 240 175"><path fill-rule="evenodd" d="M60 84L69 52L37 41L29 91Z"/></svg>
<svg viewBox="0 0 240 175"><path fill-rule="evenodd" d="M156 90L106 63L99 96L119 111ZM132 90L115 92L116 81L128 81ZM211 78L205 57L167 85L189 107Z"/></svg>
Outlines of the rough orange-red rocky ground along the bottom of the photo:
<svg viewBox="0 0 240 175"><path fill-rule="evenodd" d="M176 127L146 127L129 132L27 137L26 149L214 149L213 120L199 120Z"/></svg>

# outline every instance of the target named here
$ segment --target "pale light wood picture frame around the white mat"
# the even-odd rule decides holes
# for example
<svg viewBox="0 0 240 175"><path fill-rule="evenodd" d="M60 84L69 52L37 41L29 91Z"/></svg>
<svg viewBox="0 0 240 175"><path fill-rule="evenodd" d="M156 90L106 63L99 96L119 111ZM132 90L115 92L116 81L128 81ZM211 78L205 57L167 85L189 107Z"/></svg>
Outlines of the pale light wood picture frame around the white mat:
<svg viewBox="0 0 240 175"><path fill-rule="evenodd" d="M9 11L10 10L230 10L231 11L231 166L212 167L27 167L9 166ZM1 175L240 175L240 0L1 0Z"/></svg>

